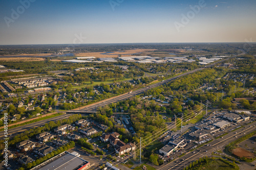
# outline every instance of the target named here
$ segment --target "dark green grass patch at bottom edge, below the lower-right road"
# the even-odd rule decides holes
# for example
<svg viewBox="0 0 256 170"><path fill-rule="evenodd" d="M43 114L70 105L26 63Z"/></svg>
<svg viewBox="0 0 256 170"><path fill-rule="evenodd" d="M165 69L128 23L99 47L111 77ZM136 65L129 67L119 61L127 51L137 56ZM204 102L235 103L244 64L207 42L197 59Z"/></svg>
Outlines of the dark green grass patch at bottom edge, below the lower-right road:
<svg viewBox="0 0 256 170"><path fill-rule="evenodd" d="M232 163L232 162L230 162ZM207 159L207 163L199 164L194 167L189 168L189 170L204 170L204 169L211 169L211 170L238 170L239 167L236 165L235 168L231 167L226 160L221 159Z"/></svg>

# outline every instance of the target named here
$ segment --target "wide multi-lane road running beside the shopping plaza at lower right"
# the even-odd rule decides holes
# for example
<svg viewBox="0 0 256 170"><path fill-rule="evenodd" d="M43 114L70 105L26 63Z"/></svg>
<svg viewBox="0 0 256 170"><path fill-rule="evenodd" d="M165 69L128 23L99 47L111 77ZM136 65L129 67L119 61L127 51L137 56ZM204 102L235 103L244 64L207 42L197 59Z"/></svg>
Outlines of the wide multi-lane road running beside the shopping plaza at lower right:
<svg viewBox="0 0 256 170"><path fill-rule="evenodd" d="M170 162L166 164L164 167L161 167L160 169L161 170L183 169L184 166L188 166L191 162L195 161L196 159L199 159L200 157L207 156L207 155L209 156L212 152L215 152L220 150L221 148L224 148L228 143L234 141L234 139L236 139L236 136L239 138L255 130L254 125L256 125L256 122L253 122L250 125L245 125L245 128L238 129L234 132L230 132L227 135L223 136L223 138L214 139L214 141L208 143L208 144L211 144L211 146L203 145L201 148L195 150L195 153L190 152L181 158L177 158L174 162Z"/></svg>

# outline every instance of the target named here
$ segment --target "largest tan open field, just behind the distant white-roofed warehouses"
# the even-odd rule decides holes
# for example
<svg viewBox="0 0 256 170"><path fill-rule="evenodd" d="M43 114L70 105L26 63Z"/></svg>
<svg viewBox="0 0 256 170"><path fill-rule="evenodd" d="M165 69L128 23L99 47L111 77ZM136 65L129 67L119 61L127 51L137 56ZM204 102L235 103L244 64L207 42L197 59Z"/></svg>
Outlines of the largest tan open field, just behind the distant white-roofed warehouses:
<svg viewBox="0 0 256 170"><path fill-rule="evenodd" d="M152 51L156 51L156 50L155 49L136 49L136 50L121 51L121 52L113 52L113 53L110 53L111 55L102 55L102 53L104 52L78 53L78 54L75 54L75 56L76 57L96 57L96 58L116 58L118 57L119 54L124 55L122 57L129 57L130 55L127 55L127 54L150 53Z"/></svg>

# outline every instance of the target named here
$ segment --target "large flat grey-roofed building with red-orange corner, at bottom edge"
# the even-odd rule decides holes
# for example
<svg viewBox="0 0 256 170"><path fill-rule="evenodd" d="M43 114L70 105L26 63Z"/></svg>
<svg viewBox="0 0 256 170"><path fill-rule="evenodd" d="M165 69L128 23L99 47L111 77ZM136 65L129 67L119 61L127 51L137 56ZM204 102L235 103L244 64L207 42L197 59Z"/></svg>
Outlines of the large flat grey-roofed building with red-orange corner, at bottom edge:
<svg viewBox="0 0 256 170"><path fill-rule="evenodd" d="M39 170L65 170L65 169L88 169L90 162L78 157L77 153L65 152L60 158L53 162L41 167Z"/></svg>

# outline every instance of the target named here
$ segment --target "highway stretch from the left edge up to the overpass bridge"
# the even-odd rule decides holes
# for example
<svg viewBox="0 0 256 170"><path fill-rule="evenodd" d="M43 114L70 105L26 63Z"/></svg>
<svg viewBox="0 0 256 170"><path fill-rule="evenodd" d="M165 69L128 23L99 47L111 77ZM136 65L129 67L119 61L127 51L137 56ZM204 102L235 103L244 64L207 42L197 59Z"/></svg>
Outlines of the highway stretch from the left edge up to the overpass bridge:
<svg viewBox="0 0 256 170"><path fill-rule="evenodd" d="M33 128L36 128L36 127L39 127L39 126L44 126L45 124L49 123L50 121L56 121L56 120L60 120L60 119L63 119L63 118L68 118L71 115L72 114L63 114L63 115L48 118L48 119L45 119L45 120L40 120L39 122L35 122L35 123L28 124L28 125L12 128L12 129L8 130L8 136L11 138L11 137L13 137L13 136L15 136L19 133L22 133L22 132L26 131L26 130L30 130L30 129L33 129ZM5 138L4 133L5 133L4 131L0 132L0 140Z"/></svg>

